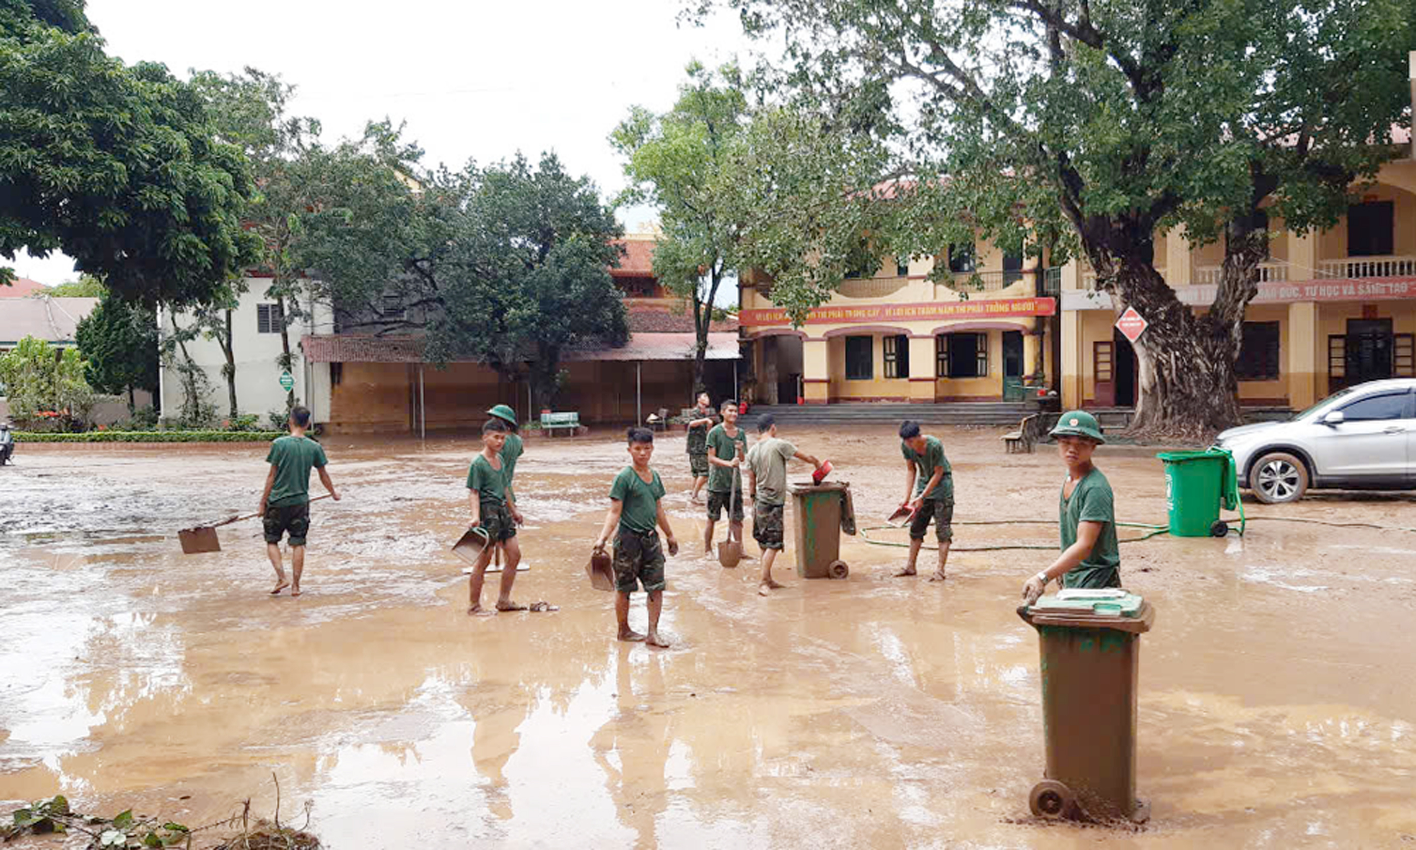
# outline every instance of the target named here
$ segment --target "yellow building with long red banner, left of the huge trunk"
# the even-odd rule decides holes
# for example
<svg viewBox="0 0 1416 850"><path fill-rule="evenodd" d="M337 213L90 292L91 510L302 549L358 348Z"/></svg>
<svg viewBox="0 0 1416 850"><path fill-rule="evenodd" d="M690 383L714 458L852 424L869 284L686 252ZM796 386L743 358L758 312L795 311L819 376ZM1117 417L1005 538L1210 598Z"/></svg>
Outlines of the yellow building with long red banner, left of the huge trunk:
<svg viewBox="0 0 1416 850"><path fill-rule="evenodd" d="M947 280L930 279L933 262L888 258L800 329L772 303L770 282L745 279L743 395L769 405L1021 401L1049 385L1061 269L984 241L950 249Z"/></svg>

